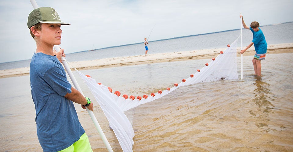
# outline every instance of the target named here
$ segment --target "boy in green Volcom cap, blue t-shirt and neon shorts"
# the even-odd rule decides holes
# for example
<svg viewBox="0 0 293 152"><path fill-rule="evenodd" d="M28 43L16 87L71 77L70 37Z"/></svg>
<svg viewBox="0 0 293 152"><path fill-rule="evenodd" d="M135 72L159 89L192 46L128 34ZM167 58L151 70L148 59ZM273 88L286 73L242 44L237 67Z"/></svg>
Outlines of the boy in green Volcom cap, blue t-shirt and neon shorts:
<svg viewBox="0 0 293 152"><path fill-rule="evenodd" d="M70 24L61 22L50 7L34 9L28 16L27 27L37 45L31 58L30 80L38 140L43 151L92 151L73 102L89 110L93 110L93 104L67 81L60 63L64 50L53 51L54 45L61 43L61 25Z"/></svg>

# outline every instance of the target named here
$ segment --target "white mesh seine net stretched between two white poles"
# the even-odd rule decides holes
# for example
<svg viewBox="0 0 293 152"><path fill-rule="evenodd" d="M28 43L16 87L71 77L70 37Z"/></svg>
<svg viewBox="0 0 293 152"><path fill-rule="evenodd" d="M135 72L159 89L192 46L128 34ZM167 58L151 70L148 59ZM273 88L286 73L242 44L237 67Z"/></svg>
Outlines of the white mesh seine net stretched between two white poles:
<svg viewBox="0 0 293 152"><path fill-rule="evenodd" d="M208 63L208 66L204 66L200 69L200 72L194 73L193 77L185 79L185 82L179 83L177 86L170 88L170 90L155 93L153 96L148 95L147 98L142 97L141 100L136 98L125 99L121 96L117 96L116 94L111 93L107 86L99 85L95 79L88 78L78 70L77 72L85 81L86 85L89 87L97 102L101 106L121 145L122 150L132 151L132 145L134 144L132 140L134 137L134 131L132 124L129 122L124 112L138 105L161 98L180 86L201 82L238 79L236 60L238 38L230 45L230 47L223 50L223 53L219 54L215 60L211 60Z"/></svg>

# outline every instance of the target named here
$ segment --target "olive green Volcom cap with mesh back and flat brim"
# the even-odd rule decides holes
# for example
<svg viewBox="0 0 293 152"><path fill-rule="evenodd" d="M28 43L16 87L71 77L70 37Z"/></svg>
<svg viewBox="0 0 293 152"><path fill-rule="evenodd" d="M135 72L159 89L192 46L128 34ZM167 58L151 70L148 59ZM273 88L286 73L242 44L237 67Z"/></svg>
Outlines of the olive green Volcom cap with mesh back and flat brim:
<svg viewBox="0 0 293 152"><path fill-rule="evenodd" d="M55 9L51 7L39 7L31 11L27 19L27 27L30 29L32 26L41 23L49 24L61 24L61 25L70 25L69 23L61 22L60 16Z"/></svg>

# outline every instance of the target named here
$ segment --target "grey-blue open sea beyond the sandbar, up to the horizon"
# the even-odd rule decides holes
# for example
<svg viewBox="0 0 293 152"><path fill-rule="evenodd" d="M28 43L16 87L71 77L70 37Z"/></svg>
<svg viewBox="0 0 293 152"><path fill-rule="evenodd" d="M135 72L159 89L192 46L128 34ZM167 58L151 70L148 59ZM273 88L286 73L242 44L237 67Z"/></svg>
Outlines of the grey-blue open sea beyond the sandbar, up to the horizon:
<svg viewBox="0 0 293 152"><path fill-rule="evenodd" d="M278 25L268 25L260 27L265 34L268 44L292 43L293 42L293 22ZM158 40L150 42L148 54L178 52L189 50L200 50L210 48L225 48L228 43L232 43L240 35L240 29L218 33L201 34L196 36L185 36L168 40ZM252 40L250 30L243 29L243 46L247 46ZM240 42L239 42L240 47ZM81 50L82 51L82 50ZM66 52L65 52L66 53ZM134 56L145 53L143 42L121 47L111 47L95 51L83 51L67 54L69 62L80 60L96 60L102 58ZM82 57L81 57L82 56ZM30 60L0 63L0 70L18 67L29 67Z"/></svg>

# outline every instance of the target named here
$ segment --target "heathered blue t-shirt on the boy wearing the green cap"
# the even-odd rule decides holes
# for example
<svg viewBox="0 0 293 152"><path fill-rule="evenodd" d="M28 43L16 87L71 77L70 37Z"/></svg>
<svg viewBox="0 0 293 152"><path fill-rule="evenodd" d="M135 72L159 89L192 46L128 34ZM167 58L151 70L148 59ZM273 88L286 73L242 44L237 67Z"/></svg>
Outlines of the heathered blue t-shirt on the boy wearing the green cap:
<svg viewBox="0 0 293 152"><path fill-rule="evenodd" d="M60 151L85 133L78 121L63 66L56 56L34 53L30 65L31 96L36 109L38 140L43 151Z"/></svg>

